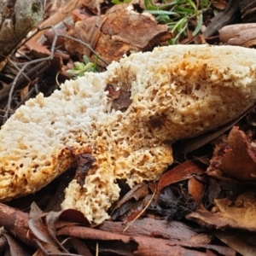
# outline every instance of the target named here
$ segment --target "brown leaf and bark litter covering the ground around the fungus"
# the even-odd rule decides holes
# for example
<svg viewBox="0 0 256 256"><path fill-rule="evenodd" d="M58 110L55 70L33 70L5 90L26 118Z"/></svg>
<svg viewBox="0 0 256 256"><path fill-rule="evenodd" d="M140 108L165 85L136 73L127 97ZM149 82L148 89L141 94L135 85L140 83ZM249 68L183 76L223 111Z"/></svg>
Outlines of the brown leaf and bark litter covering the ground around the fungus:
<svg viewBox="0 0 256 256"><path fill-rule="evenodd" d="M60 37L55 44L55 60L48 66L35 66L33 72L25 71L32 81L28 82L22 76L18 79L12 109L20 106L21 97L26 101L35 96L37 90L50 94L58 83L68 78L67 69L72 68L75 61L82 61L84 55L92 62L95 52L106 62L119 61L124 54L151 50L156 45L168 44L173 38L166 24L143 14L143 5L134 3L130 9L127 6L120 4L109 8L107 4L104 13L96 15L95 6L90 8L90 4L85 3L73 11L73 19L64 15L64 26L61 24L61 28L56 28ZM213 1L212 6L225 9L227 4ZM166 15L164 11L170 15L167 9L158 14ZM203 22L200 19L198 16L197 22ZM195 23L194 29L199 32L195 35L195 30L190 31L193 22L189 24L187 35L191 38L188 42L201 42L202 25ZM31 58L49 56L55 31L44 34L43 43L32 38L20 47L20 53ZM180 35L182 39L186 33ZM87 44L95 52L88 49ZM25 60L16 57L15 61ZM99 70L107 65L101 60L97 64ZM3 70L3 73L7 71ZM39 73L39 79L32 73ZM56 73L59 73L58 82ZM2 106L6 104L4 99L9 96L9 84L15 74L1 78L1 82L7 84L0 90L5 91L1 96ZM131 103L130 92L113 91L111 84L108 90L116 102L115 108L125 111ZM251 109L229 125L194 141L180 143L183 160L177 157L158 183L143 183L130 191L125 185L121 186L123 196L112 208L112 220L103 224L91 226L78 211L51 211L60 205L65 175L55 181L61 189L49 185L36 195L1 204L3 250L9 247L11 255L32 255L32 251L34 255L95 255L98 242L101 255L255 255L256 132L253 113ZM207 155L209 161L202 163L203 155ZM76 157L77 170L71 170L69 174L84 177L93 159L90 154L76 154ZM154 189L156 195L150 202ZM37 201L47 211L42 212L32 201ZM30 203L32 205L28 207ZM136 219L140 212L143 216ZM124 232L125 225L131 220L134 223Z"/></svg>

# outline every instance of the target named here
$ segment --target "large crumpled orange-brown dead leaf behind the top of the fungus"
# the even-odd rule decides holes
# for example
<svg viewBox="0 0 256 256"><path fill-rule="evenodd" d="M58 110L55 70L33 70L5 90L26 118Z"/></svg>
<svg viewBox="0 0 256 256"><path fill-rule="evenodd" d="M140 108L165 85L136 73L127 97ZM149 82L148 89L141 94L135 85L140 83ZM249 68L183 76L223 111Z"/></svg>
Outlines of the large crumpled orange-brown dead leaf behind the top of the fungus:
<svg viewBox="0 0 256 256"><path fill-rule="evenodd" d="M106 15L92 16L76 22L70 36L79 38L96 50L106 61L119 61L123 55L153 49L170 39L166 25L159 25L152 15L139 14L132 5L119 4ZM67 39L68 52L90 56L90 50ZM93 57L92 57L93 59ZM105 66L102 61L100 65Z"/></svg>

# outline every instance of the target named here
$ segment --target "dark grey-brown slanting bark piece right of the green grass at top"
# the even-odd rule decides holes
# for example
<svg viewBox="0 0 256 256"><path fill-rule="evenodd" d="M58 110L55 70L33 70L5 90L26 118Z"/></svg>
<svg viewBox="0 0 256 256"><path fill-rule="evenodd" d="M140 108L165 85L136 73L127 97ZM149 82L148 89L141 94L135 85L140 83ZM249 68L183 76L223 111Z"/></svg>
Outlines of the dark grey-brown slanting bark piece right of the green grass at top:
<svg viewBox="0 0 256 256"><path fill-rule="evenodd" d="M220 28L232 23L237 19L237 16L239 15L239 7L237 2L237 0L230 0L227 3L224 11L219 12L218 15L212 19L211 24L207 26L207 29L205 32L203 32L203 36L205 38L211 37L218 32Z"/></svg>

